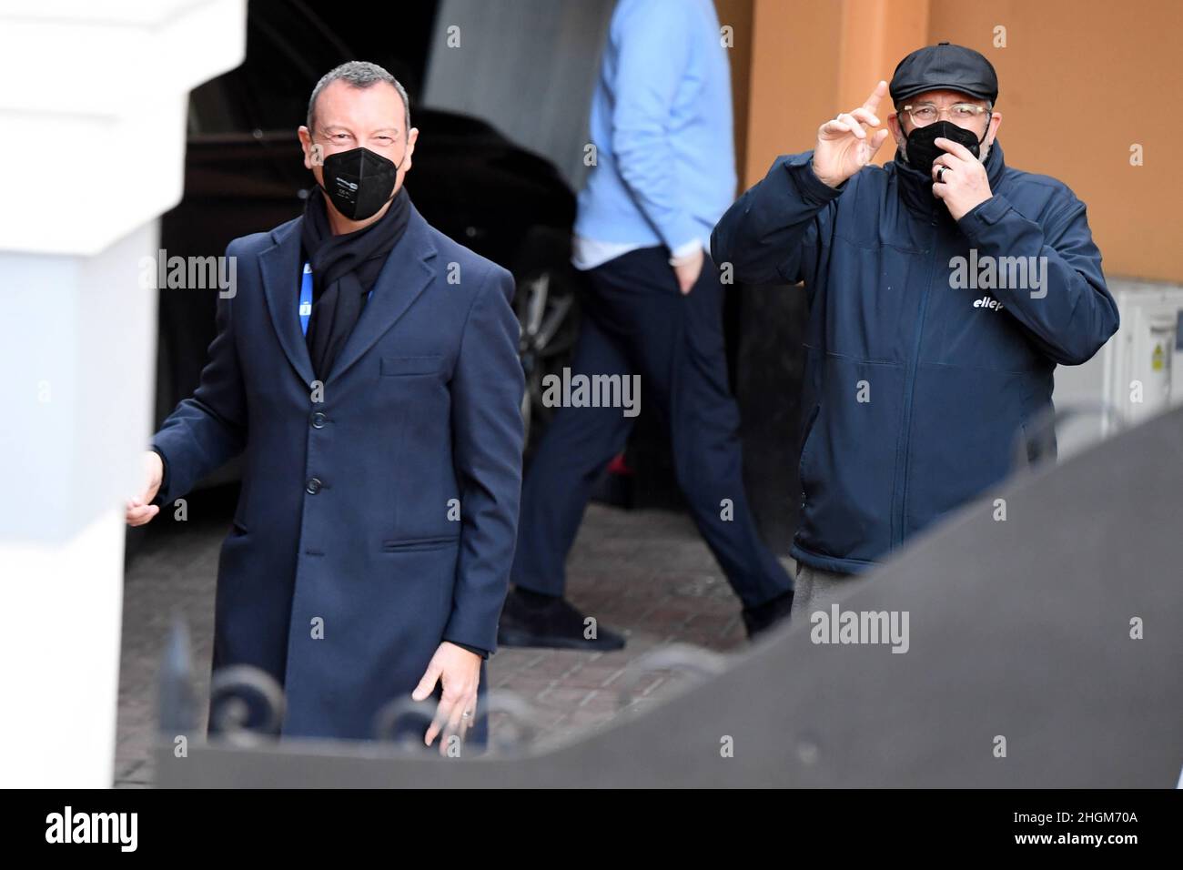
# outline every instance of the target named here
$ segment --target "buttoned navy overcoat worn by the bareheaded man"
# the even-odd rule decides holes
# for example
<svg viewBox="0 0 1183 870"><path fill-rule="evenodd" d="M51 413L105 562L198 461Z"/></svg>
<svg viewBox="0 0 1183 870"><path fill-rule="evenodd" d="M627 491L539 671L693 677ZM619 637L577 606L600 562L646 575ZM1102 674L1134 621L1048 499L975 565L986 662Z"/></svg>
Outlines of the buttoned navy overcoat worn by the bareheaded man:
<svg viewBox="0 0 1183 870"><path fill-rule="evenodd" d="M169 509L244 453L214 666L279 681L284 735L364 739L441 640L496 647L522 469L513 282L412 208L318 385L298 314L300 220L227 249L237 286L199 388L153 439L155 501Z"/></svg>

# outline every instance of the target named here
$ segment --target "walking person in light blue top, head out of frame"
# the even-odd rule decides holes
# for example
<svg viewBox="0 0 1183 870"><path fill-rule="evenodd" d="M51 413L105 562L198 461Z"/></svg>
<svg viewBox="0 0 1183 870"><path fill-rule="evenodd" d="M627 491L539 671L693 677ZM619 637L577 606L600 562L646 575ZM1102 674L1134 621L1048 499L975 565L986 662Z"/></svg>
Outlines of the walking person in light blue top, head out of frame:
<svg viewBox="0 0 1183 870"><path fill-rule="evenodd" d="M755 636L788 614L793 581L748 508L723 288L705 254L736 192L731 123L711 0L620 0L592 104L596 160L575 221L573 262L588 295L570 380L639 384L644 407L668 426L679 486ZM564 395L526 475L503 646L625 644L563 599L592 485L635 419L601 398Z"/></svg>

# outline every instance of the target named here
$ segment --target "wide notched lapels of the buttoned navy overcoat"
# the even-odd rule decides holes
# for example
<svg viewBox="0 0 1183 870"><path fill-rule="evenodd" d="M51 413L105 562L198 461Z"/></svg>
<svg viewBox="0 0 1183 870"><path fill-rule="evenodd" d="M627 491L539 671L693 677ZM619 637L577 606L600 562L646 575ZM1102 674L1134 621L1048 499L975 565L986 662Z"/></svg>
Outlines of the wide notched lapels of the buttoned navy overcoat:
<svg viewBox="0 0 1183 870"><path fill-rule="evenodd" d="M300 221L297 218L271 231L274 243L259 254L263 291L271 312L271 324L289 362L309 385L313 382L312 360L299 326ZM394 326L434 276L428 260L435 257L427 221L411 206L407 230L387 257L374 283L374 295L362 309L357 326L337 354L324 382L340 378L382 335Z"/></svg>

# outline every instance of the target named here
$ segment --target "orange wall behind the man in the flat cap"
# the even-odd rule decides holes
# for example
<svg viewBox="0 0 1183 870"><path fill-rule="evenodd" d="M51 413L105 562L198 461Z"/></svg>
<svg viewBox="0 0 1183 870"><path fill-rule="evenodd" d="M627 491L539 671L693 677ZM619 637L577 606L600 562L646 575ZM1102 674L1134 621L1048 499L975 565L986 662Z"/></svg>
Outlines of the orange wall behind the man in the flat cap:
<svg viewBox="0 0 1183 870"><path fill-rule="evenodd" d="M998 71L1007 161L1059 178L1088 205L1106 273L1183 282L1179 0L717 5L720 21L750 20L732 50L744 186L776 155L813 147L822 121L861 103L912 49L961 43ZM1133 146L1142 166L1131 166ZM879 160L893 153L888 141Z"/></svg>

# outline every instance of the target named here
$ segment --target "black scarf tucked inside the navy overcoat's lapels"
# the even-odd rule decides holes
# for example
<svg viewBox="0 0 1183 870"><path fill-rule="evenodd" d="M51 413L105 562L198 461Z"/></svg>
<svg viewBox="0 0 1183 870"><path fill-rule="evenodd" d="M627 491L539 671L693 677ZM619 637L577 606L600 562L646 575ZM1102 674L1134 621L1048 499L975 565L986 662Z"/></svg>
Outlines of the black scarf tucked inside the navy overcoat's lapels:
<svg viewBox="0 0 1183 870"><path fill-rule="evenodd" d="M312 264L312 315L308 321L308 353L312 372L323 381L345 340L357 326L367 295L411 218L411 198L401 187L386 214L357 232L334 236L319 187L309 192L300 245Z"/></svg>

